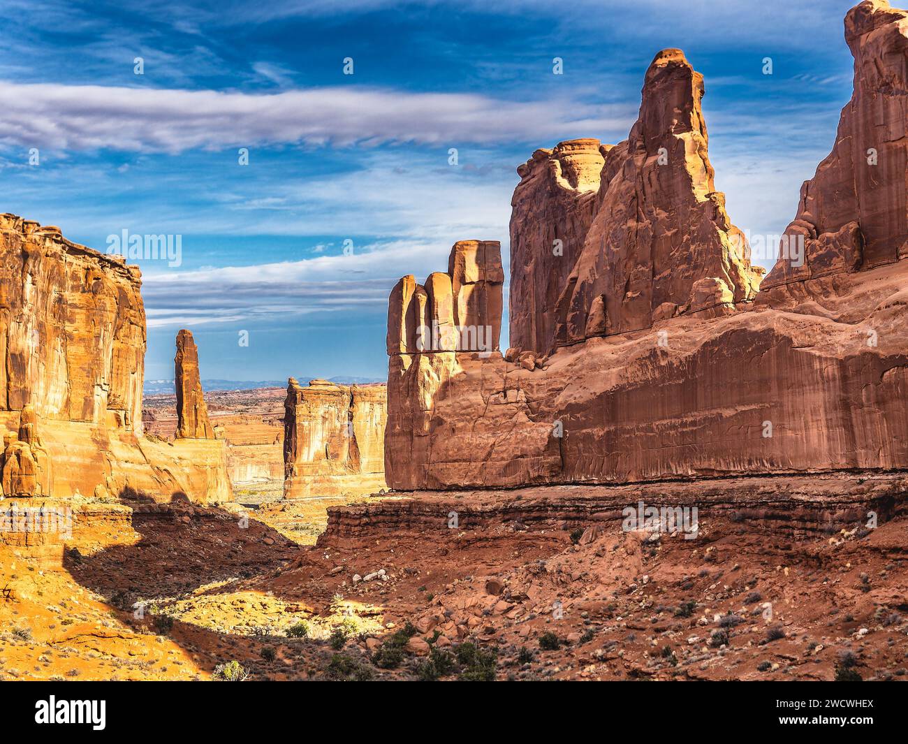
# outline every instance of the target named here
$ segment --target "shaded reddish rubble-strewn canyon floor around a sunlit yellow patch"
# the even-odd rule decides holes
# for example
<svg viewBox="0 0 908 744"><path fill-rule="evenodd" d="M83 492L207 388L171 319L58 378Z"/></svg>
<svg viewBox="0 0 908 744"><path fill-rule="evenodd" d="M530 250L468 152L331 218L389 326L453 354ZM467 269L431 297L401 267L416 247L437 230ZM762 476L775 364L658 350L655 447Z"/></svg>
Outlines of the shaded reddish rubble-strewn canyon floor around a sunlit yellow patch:
<svg viewBox="0 0 908 744"><path fill-rule="evenodd" d="M727 514L696 541L645 541L631 576L616 563L617 524L381 524L301 547L254 512L241 527L238 513L179 496L123 501L137 540L66 551L65 568L109 598L117 620L166 635L202 671L238 660L255 680L411 679L415 653L393 670L372 661L412 622L425 638L447 628L455 643L494 648L499 679L829 680L846 652L864 679L908 676L902 515L875 531L791 540ZM352 580L381 569L388 580ZM300 622L328 631L353 620L337 648L327 632L287 636Z"/></svg>

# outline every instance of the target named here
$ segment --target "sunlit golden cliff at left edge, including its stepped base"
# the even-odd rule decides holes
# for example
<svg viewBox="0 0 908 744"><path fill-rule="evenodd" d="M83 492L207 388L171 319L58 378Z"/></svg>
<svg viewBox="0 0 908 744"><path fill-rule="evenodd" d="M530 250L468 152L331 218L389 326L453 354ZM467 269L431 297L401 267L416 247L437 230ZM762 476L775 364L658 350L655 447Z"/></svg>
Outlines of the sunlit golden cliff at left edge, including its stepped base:
<svg viewBox="0 0 908 744"><path fill-rule="evenodd" d="M139 270L13 214L0 257L4 495L229 500L222 442L142 436Z"/></svg>

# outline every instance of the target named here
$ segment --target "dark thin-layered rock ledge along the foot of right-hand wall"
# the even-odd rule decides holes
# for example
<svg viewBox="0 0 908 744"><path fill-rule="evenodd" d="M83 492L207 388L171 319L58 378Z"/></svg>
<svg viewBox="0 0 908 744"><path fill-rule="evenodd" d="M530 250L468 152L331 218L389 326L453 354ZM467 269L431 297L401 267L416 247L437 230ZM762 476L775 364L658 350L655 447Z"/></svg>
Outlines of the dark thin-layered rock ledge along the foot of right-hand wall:
<svg viewBox="0 0 908 744"><path fill-rule="evenodd" d="M328 529L318 544L345 538L380 539L404 530L433 531L443 540L458 530L558 531L575 527L617 531L624 510L694 508L696 524L709 531L716 521L746 521L748 530L803 540L853 530L874 511L888 521L906 511L908 481L901 473L716 479L696 483L635 483L629 486L533 486L514 491L418 491L328 510ZM451 512L458 527L449 527ZM691 521L688 521L690 524ZM680 520L675 522L682 530ZM699 531L699 530L698 530ZM666 532L670 532L667 531ZM683 540L683 537L680 537ZM581 541L582 543L582 541Z"/></svg>

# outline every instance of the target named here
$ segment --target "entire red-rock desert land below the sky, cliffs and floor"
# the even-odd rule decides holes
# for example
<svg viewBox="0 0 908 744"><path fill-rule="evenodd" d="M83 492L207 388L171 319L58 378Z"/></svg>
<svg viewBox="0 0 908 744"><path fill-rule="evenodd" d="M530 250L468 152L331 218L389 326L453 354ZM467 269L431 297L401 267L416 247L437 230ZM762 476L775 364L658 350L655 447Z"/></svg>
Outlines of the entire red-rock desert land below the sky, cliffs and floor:
<svg viewBox="0 0 908 744"><path fill-rule="evenodd" d="M203 390L188 328L149 394L139 270L0 215L0 678L908 680L908 11L844 37L771 271L666 48L509 263L388 287L387 382Z"/></svg>

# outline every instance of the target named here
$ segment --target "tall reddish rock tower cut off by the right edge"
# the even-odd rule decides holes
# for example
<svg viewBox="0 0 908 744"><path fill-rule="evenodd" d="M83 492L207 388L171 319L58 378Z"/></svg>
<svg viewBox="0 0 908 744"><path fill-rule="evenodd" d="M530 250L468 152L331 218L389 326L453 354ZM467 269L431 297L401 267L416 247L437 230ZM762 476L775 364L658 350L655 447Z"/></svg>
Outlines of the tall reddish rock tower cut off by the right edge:
<svg viewBox="0 0 908 744"><path fill-rule="evenodd" d="M908 13L866 0L845 16L845 41L854 94L833 151L801 187L766 290L908 256Z"/></svg>

